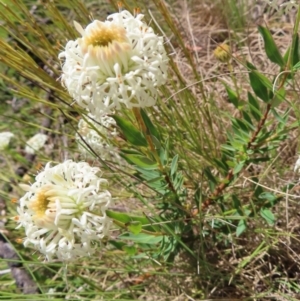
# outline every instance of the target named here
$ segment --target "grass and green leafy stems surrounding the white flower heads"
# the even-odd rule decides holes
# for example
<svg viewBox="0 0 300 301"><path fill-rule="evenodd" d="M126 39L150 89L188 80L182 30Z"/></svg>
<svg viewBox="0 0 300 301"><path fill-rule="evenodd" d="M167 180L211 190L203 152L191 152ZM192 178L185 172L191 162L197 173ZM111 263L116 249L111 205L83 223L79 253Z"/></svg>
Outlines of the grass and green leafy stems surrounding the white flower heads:
<svg viewBox="0 0 300 301"><path fill-rule="evenodd" d="M88 161L110 182L121 228L92 258L64 264L24 248L11 217L18 183L33 182L48 161L86 159L75 141L83 112L58 80L58 53L78 37L73 20L103 20L117 1L0 5L0 131L15 134L0 155L0 299L300 299L297 9L124 1L166 37L169 81L141 115L157 151L133 112L118 112L114 143L127 167L97 154ZM37 132L47 144L28 155Z"/></svg>

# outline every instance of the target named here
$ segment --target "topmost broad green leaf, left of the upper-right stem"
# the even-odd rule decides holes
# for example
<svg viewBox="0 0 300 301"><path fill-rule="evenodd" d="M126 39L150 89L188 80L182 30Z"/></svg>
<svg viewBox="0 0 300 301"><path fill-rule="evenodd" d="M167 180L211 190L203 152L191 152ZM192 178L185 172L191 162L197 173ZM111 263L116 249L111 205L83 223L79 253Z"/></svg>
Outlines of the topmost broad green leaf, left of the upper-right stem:
<svg viewBox="0 0 300 301"><path fill-rule="evenodd" d="M258 30L264 39L265 51L270 61L279 65L280 67L284 67L284 59L282 58L269 29L258 26Z"/></svg>

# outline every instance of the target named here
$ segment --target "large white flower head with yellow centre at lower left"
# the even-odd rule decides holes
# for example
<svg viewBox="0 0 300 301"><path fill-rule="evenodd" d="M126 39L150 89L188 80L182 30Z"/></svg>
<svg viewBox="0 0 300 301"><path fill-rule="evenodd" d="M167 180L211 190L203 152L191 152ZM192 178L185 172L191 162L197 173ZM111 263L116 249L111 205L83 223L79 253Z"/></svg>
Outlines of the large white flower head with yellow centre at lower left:
<svg viewBox="0 0 300 301"><path fill-rule="evenodd" d="M48 163L35 183L22 185L27 193L15 220L18 228L25 228L24 245L32 245L48 261L93 254L111 225L106 209L112 199L99 173L85 162L68 160L53 167Z"/></svg>

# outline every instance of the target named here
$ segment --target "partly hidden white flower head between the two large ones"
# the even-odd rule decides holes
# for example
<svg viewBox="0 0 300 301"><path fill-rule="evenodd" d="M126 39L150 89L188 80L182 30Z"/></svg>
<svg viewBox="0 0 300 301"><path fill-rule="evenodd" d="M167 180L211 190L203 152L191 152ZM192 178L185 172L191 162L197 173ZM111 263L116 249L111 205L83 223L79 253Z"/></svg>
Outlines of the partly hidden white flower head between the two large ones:
<svg viewBox="0 0 300 301"><path fill-rule="evenodd" d="M91 119L88 119L88 122L83 118L78 122L76 140L79 151L92 158L90 147L103 160L118 156L116 148L111 144L111 139L118 134L115 120L109 116L102 116L99 122L96 122L93 116L89 117Z"/></svg>

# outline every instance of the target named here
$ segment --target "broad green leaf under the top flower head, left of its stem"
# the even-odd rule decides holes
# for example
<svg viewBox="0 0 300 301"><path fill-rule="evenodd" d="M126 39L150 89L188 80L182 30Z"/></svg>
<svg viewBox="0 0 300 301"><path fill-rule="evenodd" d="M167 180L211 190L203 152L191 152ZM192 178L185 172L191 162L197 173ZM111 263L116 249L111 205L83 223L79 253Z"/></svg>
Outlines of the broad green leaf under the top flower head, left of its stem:
<svg viewBox="0 0 300 301"><path fill-rule="evenodd" d="M119 128L122 130L128 142L135 146L147 146L147 140L138 129L136 129L131 122L120 116L112 116Z"/></svg>

